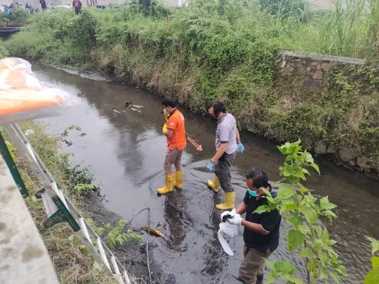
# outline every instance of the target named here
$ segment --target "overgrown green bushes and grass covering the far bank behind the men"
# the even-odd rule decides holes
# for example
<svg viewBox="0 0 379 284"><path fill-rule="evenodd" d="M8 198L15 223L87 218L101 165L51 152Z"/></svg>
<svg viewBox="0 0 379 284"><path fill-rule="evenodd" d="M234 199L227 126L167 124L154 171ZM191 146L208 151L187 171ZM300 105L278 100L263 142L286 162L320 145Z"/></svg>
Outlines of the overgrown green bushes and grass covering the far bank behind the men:
<svg viewBox="0 0 379 284"><path fill-rule="evenodd" d="M191 1L166 11L154 1L31 16L6 42L11 55L98 68L192 111L222 99L241 129L277 141L354 148L379 167L378 1L336 1L311 11L302 0ZM321 94L301 77L277 81L278 50L371 58L337 65Z"/></svg>

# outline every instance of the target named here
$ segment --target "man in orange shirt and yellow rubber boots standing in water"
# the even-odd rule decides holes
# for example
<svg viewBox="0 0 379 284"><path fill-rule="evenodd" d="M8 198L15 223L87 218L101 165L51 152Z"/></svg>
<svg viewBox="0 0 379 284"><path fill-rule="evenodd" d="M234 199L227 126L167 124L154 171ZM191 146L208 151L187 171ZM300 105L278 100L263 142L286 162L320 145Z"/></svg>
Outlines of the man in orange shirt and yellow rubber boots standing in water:
<svg viewBox="0 0 379 284"><path fill-rule="evenodd" d="M176 101L171 97L166 97L162 101L162 108L167 114L167 123L163 126L163 133L167 138L166 158L164 159L164 172L166 183L164 187L156 190L160 194L172 192L174 187L181 190L183 171L181 165L181 155L186 148L186 130L184 128L184 116L176 109ZM172 165L175 165L176 173L172 172Z"/></svg>

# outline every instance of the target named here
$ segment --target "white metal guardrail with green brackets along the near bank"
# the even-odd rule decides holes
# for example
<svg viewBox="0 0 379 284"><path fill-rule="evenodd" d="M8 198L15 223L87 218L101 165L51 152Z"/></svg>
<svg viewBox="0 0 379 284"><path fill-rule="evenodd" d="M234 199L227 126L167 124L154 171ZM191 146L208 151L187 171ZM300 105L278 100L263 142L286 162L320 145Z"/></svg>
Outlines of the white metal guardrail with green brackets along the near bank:
<svg viewBox="0 0 379 284"><path fill-rule="evenodd" d="M36 197L42 198L48 215L44 225L50 227L59 222L68 222L73 230L76 231L76 236L90 251L95 261L100 266L104 266L108 273L114 275L119 284L130 284L129 276L122 263L119 262L100 236L85 221L75 205L58 188L53 176L38 157L38 154L34 151L18 125L9 124L1 127L10 141L16 146L18 153L28 160L31 170L33 170L34 175L44 187L43 190L36 194Z"/></svg>

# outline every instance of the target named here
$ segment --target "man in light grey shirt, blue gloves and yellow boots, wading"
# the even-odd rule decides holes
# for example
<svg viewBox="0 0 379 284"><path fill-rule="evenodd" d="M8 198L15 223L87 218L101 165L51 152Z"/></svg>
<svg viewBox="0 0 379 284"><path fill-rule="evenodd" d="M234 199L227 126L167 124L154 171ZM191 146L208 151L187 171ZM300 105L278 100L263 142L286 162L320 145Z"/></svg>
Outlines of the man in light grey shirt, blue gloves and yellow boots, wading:
<svg viewBox="0 0 379 284"><path fill-rule="evenodd" d="M234 208L235 190L232 185L232 166L237 151L242 153L245 148L240 141L240 133L237 129L235 117L228 114L222 102L213 101L208 105L208 114L217 119L215 133L216 153L207 165L208 170L215 170L213 181L208 180L207 185L213 192L218 192L220 187L225 192L225 203L216 204L217 209L228 210Z"/></svg>

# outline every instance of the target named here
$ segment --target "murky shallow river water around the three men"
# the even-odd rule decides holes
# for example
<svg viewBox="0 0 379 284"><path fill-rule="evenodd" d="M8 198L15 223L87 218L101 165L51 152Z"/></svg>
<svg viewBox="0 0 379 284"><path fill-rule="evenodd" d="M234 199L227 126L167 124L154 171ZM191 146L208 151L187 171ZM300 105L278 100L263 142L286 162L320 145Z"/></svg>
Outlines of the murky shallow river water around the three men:
<svg viewBox="0 0 379 284"><path fill-rule="evenodd" d="M176 283L237 283L233 275L237 275L242 259L242 237L230 241L235 256L223 252L217 239L220 212L214 208L215 202L223 200L223 192L214 194L204 183L213 176L205 166L215 152L215 122L181 108L187 132L201 142L203 151L188 145L183 155L183 190L157 196L156 188L164 182L166 150L160 98L141 89L53 67L35 64L33 70L43 82L58 84L82 98L80 105L63 116L43 122L56 133L76 125L87 134L80 136L72 131L68 140L73 146L63 147L63 151L75 153L75 163L90 166L108 209L132 219L141 209L151 208L151 226L164 233L163 239L150 237L156 245L152 256L162 270L174 275ZM124 108L127 101L136 107ZM260 168L270 180L279 180L278 166L283 163L275 143L249 134L241 136L245 152L238 154L233 164L237 202L245 195L244 176L248 170ZM331 163L319 161L319 165L321 176L312 175L306 185L315 194L329 195L329 200L338 205L338 219L328 227L348 268L343 283L362 283L370 267L365 236L379 239L379 183ZM146 226L146 214L139 214L132 226ZM285 229L282 224L283 236ZM271 258L289 258L299 264L287 252L284 238ZM304 277L301 269L299 276Z"/></svg>

